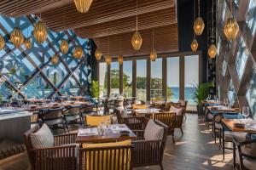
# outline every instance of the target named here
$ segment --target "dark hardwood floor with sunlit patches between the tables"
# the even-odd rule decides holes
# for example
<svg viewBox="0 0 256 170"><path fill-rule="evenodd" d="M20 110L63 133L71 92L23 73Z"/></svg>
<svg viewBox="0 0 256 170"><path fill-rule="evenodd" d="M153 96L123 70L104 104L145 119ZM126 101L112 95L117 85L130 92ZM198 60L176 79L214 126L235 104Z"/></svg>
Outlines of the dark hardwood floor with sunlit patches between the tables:
<svg viewBox="0 0 256 170"><path fill-rule="evenodd" d="M198 120L196 114L187 114L183 125L183 136L179 129L175 132L176 143L172 144L172 138L168 137L163 167L166 170L231 170L232 152L226 150L225 160L222 160L221 150L218 144L214 144L212 134L202 120ZM26 154L20 154L9 160L0 161L0 170L26 170L28 159ZM158 166L137 167L136 170L157 170Z"/></svg>

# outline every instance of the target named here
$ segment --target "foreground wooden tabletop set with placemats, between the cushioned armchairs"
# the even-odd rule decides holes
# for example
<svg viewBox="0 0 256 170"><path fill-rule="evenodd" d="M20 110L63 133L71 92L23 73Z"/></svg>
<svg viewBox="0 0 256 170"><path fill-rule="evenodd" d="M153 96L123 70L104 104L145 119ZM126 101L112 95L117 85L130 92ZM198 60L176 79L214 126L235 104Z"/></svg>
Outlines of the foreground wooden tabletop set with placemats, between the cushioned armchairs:
<svg viewBox="0 0 256 170"><path fill-rule="evenodd" d="M131 129L125 124L109 125L108 130L110 132L102 134L98 127L79 127L76 143L102 143L127 139L137 139L137 135L133 133ZM129 131L130 133L128 135L122 135L119 133L122 130Z"/></svg>

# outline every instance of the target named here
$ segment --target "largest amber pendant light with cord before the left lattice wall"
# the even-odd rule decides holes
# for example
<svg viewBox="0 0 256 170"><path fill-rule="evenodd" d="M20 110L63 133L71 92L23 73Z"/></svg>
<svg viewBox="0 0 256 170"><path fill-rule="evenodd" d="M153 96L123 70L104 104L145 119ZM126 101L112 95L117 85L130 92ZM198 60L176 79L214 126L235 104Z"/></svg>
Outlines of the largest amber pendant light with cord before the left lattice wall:
<svg viewBox="0 0 256 170"><path fill-rule="evenodd" d="M41 1L40 1L40 8L42 7ZM47 28L44 25L44 22L41 21L41 10L40 10L40 18L39 21L35 24L33 35L37 42L43 43L47 38Z"/></svg>

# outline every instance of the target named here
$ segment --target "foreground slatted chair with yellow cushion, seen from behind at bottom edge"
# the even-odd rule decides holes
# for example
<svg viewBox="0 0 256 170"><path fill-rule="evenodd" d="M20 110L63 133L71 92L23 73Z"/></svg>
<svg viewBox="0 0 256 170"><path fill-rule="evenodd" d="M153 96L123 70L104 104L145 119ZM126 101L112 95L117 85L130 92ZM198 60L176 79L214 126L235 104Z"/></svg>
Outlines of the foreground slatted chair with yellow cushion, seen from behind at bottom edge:
<svg viewBox="0 0 256 170"><path fill-rule="evenodd" d="M102 144L83 144L79 149L79 170L131 170L131 140Z"/></svg>

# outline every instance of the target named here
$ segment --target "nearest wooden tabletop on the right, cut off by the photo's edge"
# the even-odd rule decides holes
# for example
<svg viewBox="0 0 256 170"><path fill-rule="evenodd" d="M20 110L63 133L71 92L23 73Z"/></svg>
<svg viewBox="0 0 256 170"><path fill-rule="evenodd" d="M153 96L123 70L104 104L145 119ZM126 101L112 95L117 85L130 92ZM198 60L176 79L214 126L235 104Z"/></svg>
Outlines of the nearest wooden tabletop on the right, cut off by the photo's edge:
<svg viewBox="0 0 256 170"><path fill-rule="evenodd" d="M247 124L251 124L252 126L248 127L236 127L235 123L237 123L234 119L222 119L221 122L230 129L232 132L239 133L256 133L256 122L246 122ZM242 119L241 119L242 122Z"/></svg>

